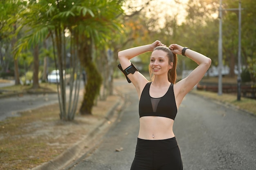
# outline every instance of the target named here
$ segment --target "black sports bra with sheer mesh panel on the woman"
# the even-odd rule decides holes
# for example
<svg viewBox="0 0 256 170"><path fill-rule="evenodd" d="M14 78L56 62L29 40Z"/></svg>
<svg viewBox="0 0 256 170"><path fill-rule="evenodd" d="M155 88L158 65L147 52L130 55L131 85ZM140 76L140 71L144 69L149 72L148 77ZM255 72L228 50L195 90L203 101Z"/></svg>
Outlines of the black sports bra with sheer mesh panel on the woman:
<svg viewBox="0 0 256 170"><path fill-rule="evenodd" d="M151 82L144 87L139 100L139 117L143 116L159 116L175 119L177 114L177 106L173 92L173 84L170 85L164 96L153 98L149 95Z"/></svg>

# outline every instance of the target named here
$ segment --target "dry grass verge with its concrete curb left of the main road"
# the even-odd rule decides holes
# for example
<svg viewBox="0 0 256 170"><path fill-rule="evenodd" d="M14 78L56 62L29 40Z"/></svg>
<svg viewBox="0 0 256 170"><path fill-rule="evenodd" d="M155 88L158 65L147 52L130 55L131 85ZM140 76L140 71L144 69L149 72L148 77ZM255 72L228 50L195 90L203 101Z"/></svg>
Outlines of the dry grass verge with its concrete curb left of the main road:
<svg viewBox="0 0 256 170"><path fill-rule="evenodd" d="M115 81L124 86L128 84L126 79ZM114 87L114 95L106 101L99 100L92 115L76 115L74 121L59 119L58 104L0 121L0 169L63 170L88 155L101 143L123 107L124 97L118 92L120 86ZM40 115L39 119L28 121L36 115ZM11 129L12 124L17 130ZM11 158L6 159L5 155Z"/></svg>

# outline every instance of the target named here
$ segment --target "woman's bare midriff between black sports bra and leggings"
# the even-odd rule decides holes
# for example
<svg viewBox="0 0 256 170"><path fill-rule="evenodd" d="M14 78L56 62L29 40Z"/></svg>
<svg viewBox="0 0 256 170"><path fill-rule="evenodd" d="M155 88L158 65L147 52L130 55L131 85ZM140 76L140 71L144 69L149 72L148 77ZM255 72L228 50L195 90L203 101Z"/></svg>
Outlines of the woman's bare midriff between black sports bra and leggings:
<svg viewBox="0 0 256 170"><path fill-rule="evenodd" d="M175 137L173 133L174 120L167 117L144 116L139 118L140 139L162 140Z"/></svg>

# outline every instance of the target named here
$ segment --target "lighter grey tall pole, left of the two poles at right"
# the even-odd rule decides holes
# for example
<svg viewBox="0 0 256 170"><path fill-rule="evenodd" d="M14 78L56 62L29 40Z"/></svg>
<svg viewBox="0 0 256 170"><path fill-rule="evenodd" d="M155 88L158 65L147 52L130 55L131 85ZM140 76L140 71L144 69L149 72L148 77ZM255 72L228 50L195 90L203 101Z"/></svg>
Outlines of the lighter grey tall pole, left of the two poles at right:
<svg viewBox="0 0 256 170"><path fill-rule="evenodd" d="M220 8L219 8L219 41L218 41L218 95L222 95L222 0L220 0Z"/></svg>

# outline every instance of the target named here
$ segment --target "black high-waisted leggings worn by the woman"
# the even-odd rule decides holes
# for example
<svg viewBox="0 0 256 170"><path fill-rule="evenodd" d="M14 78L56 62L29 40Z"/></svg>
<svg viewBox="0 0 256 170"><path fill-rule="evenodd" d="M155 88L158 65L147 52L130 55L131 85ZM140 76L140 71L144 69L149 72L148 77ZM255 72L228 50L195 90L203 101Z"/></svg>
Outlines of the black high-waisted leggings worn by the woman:
<svg viewBox="0 0 256 170"><path fill-rule="evenodd" d="M183 170L176 138L137 139L135 158L130 170Z"/></svg>

